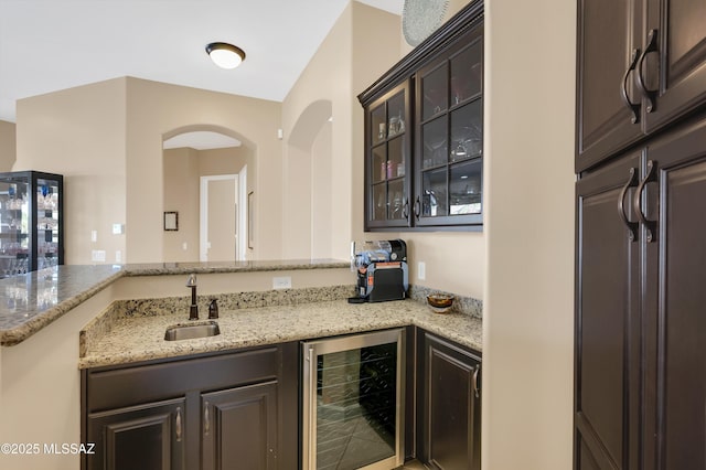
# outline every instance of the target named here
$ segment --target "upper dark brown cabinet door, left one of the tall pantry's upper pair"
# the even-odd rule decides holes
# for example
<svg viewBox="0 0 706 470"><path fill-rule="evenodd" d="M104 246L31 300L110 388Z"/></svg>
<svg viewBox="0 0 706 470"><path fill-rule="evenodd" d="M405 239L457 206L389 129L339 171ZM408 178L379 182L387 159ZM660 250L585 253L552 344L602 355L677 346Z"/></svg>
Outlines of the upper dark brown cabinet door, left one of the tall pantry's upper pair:
<svg viewBox="0 0 706 470"><path fill-rule="evenodd" d="M578 90L576 171L614 154L642 136L635 114L624 103L622 86L631 102L633 50L642 40L637 30L638 0L580 0L578 23ZM633 26L635 25L635 26ZM625 79L627 78L627 79Z"/></svg>

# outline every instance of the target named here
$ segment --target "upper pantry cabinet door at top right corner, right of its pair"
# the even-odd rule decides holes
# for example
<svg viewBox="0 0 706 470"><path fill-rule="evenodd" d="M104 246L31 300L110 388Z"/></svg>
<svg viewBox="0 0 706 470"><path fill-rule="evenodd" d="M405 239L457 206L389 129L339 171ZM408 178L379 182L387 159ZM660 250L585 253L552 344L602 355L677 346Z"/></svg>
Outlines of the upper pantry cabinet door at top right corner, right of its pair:
<svg viewBox="0 0 706 470"><path fill-rule="evenodd" d="M656 30L659 53L646 57L648 88L659 92L645 114L651 132L706 103L706 3L691 0L652 0L648 32ZM650 54L654 55L654 54ZM659 57L659 58L657 58ZM659 82L657 82L659 71ZM657 85L659 83L659 85Z"/></svg>

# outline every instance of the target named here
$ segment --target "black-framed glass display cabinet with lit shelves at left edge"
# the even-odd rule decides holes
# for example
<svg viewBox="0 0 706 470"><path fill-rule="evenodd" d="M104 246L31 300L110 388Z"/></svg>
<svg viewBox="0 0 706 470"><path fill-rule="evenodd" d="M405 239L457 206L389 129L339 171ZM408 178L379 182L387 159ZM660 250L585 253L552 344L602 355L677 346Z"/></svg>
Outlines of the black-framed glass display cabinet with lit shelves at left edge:
<svg viewBox="0 0 706 470"><path fill-rule="evenodd" d="M0 173L0 278L63 264L58 174Z"/></svg>

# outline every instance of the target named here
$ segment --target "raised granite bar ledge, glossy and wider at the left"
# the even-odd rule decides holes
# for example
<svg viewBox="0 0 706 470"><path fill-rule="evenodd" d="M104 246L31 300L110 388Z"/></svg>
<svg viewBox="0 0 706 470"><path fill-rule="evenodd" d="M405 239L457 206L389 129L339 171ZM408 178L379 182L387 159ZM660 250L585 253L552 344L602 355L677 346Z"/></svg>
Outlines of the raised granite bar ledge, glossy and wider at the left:
<svg viewBox="0 0 706 470"><path fill-rule="evenodd" d="M347 267L334 259L66 265L0 279L0 345L19 344L124 276Z"/></svg>

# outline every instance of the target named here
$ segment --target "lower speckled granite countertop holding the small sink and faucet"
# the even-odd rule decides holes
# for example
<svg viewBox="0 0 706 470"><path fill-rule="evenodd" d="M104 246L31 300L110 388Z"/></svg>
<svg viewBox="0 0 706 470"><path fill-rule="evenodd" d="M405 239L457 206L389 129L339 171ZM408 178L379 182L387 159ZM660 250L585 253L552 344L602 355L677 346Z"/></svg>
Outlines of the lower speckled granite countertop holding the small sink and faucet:
<svg viewBox="0 0 706 470"><path fill-rule="evenodd" d="M107 310L104 316L116 314ZM426 305L407 299L377 303L328 300L244 309L221 309L221 334L211 338L165 341L168 327L188 321L183 314L117 316L110 327L82 351L79 367L98 367L154 359L327 338L386 328L417 325L479 352L482 321L467 313L435 313ZM202 311L201 318L207 317ZM87 329L99 328L97 318Z"/></svg>

